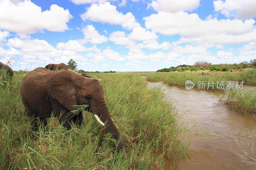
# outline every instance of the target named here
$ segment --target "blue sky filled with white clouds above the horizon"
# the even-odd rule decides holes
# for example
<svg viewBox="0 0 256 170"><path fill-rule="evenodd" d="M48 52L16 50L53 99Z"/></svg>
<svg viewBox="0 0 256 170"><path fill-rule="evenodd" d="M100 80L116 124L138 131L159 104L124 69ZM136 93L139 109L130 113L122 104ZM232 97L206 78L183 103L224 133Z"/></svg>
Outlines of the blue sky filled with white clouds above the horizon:
<svg viewBox="0 0 256 170"><path fill-rule="evenodd" d="M256 0L0 0L0 61L156 71L256 58Z"/></svg>

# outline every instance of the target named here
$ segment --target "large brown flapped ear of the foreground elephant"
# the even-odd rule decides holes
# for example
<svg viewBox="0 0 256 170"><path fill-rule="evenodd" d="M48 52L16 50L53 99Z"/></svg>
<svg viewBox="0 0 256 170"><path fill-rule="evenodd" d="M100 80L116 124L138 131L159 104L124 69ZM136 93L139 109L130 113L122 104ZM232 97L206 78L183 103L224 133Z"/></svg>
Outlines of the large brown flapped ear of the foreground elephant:
<svg viewBox="0 0 256 170"><path fill-rule="evenodd" d="M47 91L50 96L70 111L76 110L73 105L78 105L77 89L73 83L75 76L75 73L64 70L47 81Z"/></svg>

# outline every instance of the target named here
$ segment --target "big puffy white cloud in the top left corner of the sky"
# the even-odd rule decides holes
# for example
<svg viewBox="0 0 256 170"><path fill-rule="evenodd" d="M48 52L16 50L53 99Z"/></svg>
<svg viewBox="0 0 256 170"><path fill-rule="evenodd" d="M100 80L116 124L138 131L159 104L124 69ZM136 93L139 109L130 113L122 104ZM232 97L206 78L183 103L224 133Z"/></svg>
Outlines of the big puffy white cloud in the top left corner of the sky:
<svg viewBox="0 0 256 170"><path fill-rule="evenodd" d="M36 33L43 30L63 32L72 18L68 9L52 4L50 10L42 12L41 7L24 0L13 4L9 0L0 1L1 28L16 33Z"/></svg>

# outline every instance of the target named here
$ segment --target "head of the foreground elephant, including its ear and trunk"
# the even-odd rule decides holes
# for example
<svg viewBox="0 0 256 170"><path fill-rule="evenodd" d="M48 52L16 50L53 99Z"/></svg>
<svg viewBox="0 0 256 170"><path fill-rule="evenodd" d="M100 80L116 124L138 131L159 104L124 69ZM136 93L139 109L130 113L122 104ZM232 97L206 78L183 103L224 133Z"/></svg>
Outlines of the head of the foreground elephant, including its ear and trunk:
<svg viewBox="0 0 256 170"><path fill-rule="evenodd" d="M95 117L103 121L116 140L120 140L116 148L123 148L124 140L109 115L104 92L97 79L81 76L72 70L63 70L47 81L47 90L53 99L69 111L76 110L74 105L89 104Z"/></svg>

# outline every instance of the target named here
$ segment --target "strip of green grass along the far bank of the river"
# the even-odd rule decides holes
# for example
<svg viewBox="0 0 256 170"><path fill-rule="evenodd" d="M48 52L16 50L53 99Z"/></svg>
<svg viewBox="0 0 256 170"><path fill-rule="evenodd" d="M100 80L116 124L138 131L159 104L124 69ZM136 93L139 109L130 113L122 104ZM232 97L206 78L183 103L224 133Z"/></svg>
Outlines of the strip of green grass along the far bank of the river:
<svg viewBox="0 0 256 170"><path fill-rule="evenodd" d="M205 73L205 72L204 72ZM207 72L209 73L209 72ZM185 86L185 81L190 80L197 86L198 81L206 81L205 89L208 87L208 81L214 83L214 89L217 87L218 81L244 81L244 85L256 85L256 69L244 70L241 73L236 72L222 72L210 73L209 75L202 74L202 72L153 72L140 73L146 76L148 81L162 81L168 85ZM210 86L210 88L212 88Z"/></svg>

